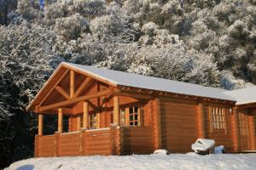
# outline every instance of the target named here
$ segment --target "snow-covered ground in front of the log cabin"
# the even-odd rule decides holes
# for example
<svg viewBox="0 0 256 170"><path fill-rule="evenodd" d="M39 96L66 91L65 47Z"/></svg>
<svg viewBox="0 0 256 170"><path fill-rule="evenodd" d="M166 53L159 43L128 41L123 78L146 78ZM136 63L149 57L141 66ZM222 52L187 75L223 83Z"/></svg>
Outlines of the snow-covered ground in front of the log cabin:
<svg viewBox="0 0 256 170"><path fill-rule="evenodd" d="M194 153L148 156L76 156L31 158L6 168L32 169L256 169L256 154L198 156Z"/></svg>

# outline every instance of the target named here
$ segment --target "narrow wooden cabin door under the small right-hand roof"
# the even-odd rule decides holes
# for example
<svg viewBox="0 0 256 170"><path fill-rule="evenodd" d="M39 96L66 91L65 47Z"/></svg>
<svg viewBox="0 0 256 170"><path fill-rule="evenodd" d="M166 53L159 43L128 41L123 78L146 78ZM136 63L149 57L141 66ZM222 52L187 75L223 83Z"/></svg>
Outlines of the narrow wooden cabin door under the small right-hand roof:
<svg viewBox="0 0 256 170"><path fill-rule="evenodd" d="M239 113L239 129L241 150L250 150L248 116L245 113Z"/></svg>

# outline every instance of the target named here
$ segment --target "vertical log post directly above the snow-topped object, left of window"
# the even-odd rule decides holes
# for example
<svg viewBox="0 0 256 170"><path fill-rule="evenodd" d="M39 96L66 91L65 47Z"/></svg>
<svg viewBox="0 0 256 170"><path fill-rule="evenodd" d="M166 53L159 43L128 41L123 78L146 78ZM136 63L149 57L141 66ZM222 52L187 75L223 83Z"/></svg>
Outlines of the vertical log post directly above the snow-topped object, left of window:
<svg viewBox="0 0 256 170"><path fill-rule="evenodd" d="M206 138L206 132L205 132L205 117L204 117L204 107L203 104L199 104L198 105L198 130L199 130L199 134L198 137L201 139L205 139Z"/></svg>

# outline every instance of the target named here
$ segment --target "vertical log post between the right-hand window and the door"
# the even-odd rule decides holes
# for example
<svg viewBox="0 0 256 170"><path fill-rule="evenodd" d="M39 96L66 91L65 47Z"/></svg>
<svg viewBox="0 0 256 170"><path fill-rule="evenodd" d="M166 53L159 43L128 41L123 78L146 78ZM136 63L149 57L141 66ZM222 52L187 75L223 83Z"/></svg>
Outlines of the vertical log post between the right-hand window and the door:
<svg viewBox="0 0 256 170"><path fill-rule="evenodd" d="M241 150L240 144L240 133L239 133L239 120L238 120L238 111L236 107L233 107L232 115L232 136L234 141L234 151L237 152Z"/></svg>

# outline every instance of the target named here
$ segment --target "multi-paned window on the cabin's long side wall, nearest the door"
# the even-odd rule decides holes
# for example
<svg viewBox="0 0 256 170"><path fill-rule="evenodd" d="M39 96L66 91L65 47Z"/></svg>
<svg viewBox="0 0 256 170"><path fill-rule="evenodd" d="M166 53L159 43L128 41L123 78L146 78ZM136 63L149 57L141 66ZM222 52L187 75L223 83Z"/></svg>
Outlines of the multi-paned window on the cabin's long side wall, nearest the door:
<svg viewBox="0 0 256 170"><path fill-rule="evenodd" d="M213 130L221 130L226 128L223 108L211 108L211 126Z"/></svg>

